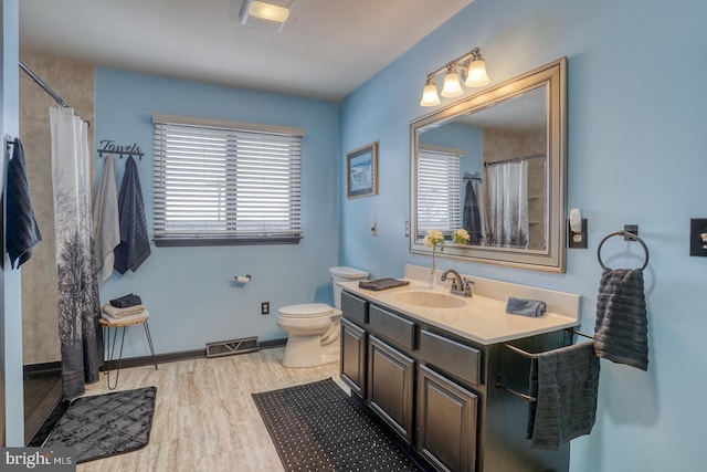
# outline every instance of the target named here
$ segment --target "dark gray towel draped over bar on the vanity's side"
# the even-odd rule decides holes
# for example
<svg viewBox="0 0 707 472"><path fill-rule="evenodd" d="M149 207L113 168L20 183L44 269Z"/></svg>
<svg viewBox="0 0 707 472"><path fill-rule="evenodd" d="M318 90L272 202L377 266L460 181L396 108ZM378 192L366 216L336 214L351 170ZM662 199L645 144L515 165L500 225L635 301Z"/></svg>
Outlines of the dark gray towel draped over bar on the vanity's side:
<svg viewBox="0 0 707 472"><path fill-rule="evenodd" d="M592 343L540 353L530 369L528 439L534 449L558 450L589 434L597 418L599 358Z"/></svg>

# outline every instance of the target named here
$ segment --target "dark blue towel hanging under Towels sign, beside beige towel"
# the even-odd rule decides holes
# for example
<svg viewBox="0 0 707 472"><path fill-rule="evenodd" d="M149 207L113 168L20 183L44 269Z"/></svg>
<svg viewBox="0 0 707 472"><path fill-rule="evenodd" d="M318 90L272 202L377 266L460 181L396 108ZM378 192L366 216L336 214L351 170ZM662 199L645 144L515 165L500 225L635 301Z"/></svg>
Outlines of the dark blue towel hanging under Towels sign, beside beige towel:
<svg viewBox="0 0 707 472"><path fill-rule="evenodd" d="M137 165L133 156L125 164L125 175L118 196L120 220L120 244L115 249L114 268L119 274L133 272L150 255L150 241L147 237L143 189L137 175Z"/></svg>

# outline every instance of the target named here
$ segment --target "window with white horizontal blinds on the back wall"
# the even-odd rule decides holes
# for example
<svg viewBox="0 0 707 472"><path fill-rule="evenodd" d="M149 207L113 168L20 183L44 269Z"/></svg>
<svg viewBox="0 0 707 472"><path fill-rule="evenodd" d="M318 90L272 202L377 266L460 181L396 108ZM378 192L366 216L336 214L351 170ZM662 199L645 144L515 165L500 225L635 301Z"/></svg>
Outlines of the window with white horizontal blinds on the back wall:
<svg viewBox="0 0 707 472"><path fill-rule="evenodd" d="M300 129L154 122L157 245L299 242Z"/></svg>

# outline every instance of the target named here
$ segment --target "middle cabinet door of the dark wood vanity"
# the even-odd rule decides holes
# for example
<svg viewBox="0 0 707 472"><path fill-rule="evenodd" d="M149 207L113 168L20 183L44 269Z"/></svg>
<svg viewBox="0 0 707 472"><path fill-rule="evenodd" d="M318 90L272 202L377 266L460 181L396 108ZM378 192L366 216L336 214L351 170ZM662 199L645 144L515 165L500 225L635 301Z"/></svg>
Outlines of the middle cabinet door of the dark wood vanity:
<svg viewBox="0 0 707 472"><path fill-rule="evenodd" d="M414 359L376 336L369 337L369 406L408 443L412 441L414 365Z"/></svg>

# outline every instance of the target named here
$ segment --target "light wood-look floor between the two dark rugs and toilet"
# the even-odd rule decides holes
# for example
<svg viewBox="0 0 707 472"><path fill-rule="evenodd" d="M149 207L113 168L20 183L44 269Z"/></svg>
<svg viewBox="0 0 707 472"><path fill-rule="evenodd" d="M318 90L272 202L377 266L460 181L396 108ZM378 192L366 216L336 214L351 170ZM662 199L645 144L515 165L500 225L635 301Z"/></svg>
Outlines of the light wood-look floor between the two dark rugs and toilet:
<svg viewBox="0 0 707 472"><path fill-rule="evenodd" d="M334 378L338 364L286 369L283 348L123 369L117 390L157 387L147 448L77 466L87 471L277 472L282 464L251 394ZM110 380L114 380L113 375ZM345 388L348 392L348 388ZM108 392L105 378L86 395Z"/></svg>

